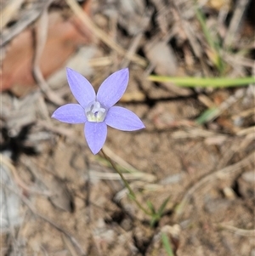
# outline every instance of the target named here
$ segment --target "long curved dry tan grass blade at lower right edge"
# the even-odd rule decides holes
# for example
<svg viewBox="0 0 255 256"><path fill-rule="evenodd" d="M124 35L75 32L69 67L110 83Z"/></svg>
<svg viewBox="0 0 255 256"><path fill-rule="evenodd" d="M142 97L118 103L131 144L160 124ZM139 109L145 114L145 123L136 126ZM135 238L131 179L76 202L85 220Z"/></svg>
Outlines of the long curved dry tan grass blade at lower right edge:
<svg viewBox="0 0 255 256"><path fill-rule="evenodd" d="M206 177L199 180L195 185L193 185L184 195L182 201L178 204L178 207L175 210L175 218L178 218L184 213L184 208L186 204L190 201L190 198L194 194L195 191L201 188L203 185L209 185L215 179L222 179L224 176L228 174L233 174L239 171L241 168L246 167L250 162L254 161L255 151L253 151L249 156L242 159L240 162L236 162L235 164L229 165L228 167L222 168L212 174L207 175Z"/></svg>

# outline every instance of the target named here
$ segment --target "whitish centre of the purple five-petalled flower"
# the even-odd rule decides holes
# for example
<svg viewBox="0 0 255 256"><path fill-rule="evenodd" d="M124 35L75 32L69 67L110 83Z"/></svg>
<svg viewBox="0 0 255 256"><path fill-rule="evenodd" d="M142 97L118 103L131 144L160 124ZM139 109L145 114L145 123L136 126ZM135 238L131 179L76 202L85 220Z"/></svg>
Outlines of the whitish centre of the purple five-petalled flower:
<svg viewBox="0 0 255 256"><path fill-rule="evenodd" d="M99 101L90 102L85 108L85 114L89 122L103 122L106 116L106 109Z"/></svg>

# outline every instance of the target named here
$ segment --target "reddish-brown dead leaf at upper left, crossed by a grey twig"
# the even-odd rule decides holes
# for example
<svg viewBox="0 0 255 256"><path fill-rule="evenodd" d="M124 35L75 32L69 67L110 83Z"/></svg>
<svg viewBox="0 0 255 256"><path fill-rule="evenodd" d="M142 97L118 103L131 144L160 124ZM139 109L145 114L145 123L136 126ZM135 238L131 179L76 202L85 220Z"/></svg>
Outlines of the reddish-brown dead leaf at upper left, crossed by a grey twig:
<svg viewBox="0 0 255 256"><path fill-rule="evenodd" d="M86 2L83 9L89 13L90 1ZM92 38L80 20L74 16L64 20L59 11L49 14L48 24L48 38L40 61L43 77L57 71L79 45L91 42ZM0 74L1 91L14 86L23 88L35 84L31 74L34 54L32 32L31 28L27 28L9 44Z"/></svg>

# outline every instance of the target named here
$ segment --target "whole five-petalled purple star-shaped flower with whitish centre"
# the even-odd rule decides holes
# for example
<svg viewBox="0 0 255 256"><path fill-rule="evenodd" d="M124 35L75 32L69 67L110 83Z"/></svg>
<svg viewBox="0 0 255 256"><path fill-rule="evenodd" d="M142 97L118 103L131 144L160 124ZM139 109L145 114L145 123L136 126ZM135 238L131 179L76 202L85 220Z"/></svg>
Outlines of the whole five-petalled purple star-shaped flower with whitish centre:
<svg viewBox="0 0 255 256"><path fill-rule="evenodd" d="M97 94L85 77L70 68L67 80L79 104L66 104L54 111L52 117L60 122L85 123L84 134L90 150L97 154L105 144L107 125L122 131L134 131L144 123L132 111L113 106L126 91L128 69L116 71L101 84Z"/></svg>

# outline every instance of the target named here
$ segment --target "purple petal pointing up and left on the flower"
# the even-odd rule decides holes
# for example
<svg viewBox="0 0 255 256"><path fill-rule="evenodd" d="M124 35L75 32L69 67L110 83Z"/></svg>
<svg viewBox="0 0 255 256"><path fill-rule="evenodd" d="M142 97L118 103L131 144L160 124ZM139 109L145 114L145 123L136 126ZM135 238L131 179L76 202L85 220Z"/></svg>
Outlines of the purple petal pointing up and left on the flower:
<svg viewBox="0 0 255 256"><path fill-rule="evenodd" d="M80 105L85 108L91 101L95 100L94 88L88 80L77 71L66 68L67 81L71 88L71 93Z"/></svg>

